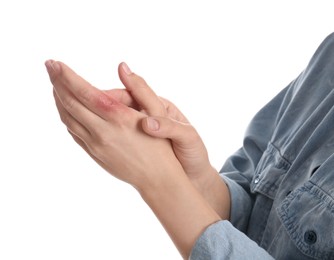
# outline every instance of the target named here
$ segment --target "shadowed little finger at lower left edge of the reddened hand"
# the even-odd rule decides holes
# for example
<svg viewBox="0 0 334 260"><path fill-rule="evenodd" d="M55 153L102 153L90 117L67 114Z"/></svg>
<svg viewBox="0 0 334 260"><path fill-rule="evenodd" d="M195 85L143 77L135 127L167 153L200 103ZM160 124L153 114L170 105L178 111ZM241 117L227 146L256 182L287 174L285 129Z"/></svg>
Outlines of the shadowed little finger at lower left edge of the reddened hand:
<svg viewBox="0 0 334 260"><path fill-rule="evenodd" d="M66 125L67 129L79 136L82 139L87 139L90 136L90 132L82 124L80 124L67 110L63 107L55 91L53 92L56 106L60 115L61 121Z"/></svg>

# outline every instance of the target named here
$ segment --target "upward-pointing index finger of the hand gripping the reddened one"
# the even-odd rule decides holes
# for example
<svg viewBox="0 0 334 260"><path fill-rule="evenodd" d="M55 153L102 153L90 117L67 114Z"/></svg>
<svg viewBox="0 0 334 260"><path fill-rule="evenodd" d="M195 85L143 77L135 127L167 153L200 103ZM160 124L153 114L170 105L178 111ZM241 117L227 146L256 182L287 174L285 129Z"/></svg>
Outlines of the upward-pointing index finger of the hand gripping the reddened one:
<svg viewBox="0 0 334 260"><path fill-rule="evenodd" d="M166 115L166 109L159 97L142 77L131 72L126 63L123 62L119 65L118 74L126 89L148 115Z"/></svg>

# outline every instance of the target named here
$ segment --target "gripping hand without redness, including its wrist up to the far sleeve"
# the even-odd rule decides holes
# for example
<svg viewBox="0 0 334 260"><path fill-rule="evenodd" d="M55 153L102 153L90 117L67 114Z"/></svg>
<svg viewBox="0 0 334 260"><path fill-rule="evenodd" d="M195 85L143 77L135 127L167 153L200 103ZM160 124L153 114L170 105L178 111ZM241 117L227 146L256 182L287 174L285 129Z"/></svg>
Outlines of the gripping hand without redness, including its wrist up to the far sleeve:
<svg viewBox="0 0 334 260"><path fill-rule="evenodd" d="M150 136L171 140L175 155L194 187L222 218L229 218L229 208L225 207L229 205L227 187L211 166L207 149L196 129L172 102L158 97L125 63L120 64L118 72L126 89L112 89L105 93L148 115L142 119L143 130Z"/></svg>

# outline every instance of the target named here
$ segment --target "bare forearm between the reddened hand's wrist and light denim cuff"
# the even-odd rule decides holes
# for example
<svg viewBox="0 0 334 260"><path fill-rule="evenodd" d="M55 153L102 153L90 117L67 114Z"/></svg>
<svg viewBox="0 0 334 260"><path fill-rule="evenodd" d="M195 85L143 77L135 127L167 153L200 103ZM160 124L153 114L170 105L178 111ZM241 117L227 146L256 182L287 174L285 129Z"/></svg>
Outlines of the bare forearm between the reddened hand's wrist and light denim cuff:
<svg viewBox="0 0 334 260"><path fill-rule="evenodd" d="M203 231L220 220L180 167L154 187L139 190L183 258L188 258Z"/></svg>

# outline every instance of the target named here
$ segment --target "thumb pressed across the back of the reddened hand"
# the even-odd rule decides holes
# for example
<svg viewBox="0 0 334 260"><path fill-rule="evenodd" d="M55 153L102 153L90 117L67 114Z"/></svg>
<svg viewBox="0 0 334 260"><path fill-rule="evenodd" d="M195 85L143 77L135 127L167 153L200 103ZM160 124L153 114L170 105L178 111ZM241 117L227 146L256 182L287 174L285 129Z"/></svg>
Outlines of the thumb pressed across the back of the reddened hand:
<svg viewBox="0 0 334 260"><path fill-rule="evenodd" d="M168 138L181 146L191 144L199 138L192 125L167 117L146 117L142 120L142 127L151 136Z"/></svg>

